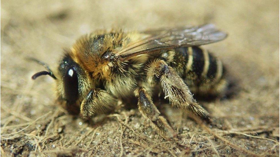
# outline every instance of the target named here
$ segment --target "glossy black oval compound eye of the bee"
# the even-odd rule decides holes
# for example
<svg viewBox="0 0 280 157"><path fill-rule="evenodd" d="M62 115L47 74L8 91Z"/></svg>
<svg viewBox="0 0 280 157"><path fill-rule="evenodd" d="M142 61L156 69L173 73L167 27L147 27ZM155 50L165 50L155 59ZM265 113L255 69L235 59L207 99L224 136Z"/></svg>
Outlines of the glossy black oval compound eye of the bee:
<svg viewBox="0 0 280 157"><path fill-rule="evenodd" d="M78 74L75 67L71 66L66 70L63 77L65 97L68 103L75 103L79 97Z"/></svg>

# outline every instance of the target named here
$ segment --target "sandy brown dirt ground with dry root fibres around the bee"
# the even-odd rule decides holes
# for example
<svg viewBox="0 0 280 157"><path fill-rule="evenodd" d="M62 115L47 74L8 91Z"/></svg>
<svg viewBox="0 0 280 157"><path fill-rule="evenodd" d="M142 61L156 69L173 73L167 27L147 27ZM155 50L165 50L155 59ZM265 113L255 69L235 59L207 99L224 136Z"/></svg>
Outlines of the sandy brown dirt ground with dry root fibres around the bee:
<svg viewBox="0 0 280 157"><path fill-rule="evenodd" d="M92 122L54 102L51 77L62 49L96 29L145 30L214 23L229 37L205 45L240 86L202 101L212 124L160 104L180 136L164 140L137 108ZM279 1L1 1L2 156L279 156Z"/></svg>

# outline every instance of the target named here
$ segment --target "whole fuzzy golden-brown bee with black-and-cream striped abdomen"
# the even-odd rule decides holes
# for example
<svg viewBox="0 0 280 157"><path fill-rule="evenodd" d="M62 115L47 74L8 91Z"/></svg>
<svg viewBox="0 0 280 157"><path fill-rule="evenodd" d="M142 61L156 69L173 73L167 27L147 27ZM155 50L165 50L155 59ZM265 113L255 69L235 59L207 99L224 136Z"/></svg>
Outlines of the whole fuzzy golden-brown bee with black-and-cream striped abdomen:
<svg viewBox="0 0 280 157"><path fill-rule="evenodd" d="M32 76L55 79L57 100L83 118L113 110L119 100L137 104L140 113L163 138L177 137L152 98L164 96L173 107L208 118L193 98L223 94L228 82L221 61L199 47L227 34L212 24L144 32L96 31L80 37L56 70Z"/></svg>

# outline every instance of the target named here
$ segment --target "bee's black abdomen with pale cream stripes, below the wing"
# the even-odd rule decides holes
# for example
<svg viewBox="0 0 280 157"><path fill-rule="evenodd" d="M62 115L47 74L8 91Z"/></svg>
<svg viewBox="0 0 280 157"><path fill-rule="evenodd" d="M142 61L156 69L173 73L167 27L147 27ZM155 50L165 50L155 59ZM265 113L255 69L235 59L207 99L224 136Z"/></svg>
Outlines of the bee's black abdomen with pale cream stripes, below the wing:
<svg viewBox="0 0 280 157"><path fill-rule="evenodd" d="M170 63L193 92L219 93L225 88L223 65L206 49L199 47L176 48ZM184 62L184 63L182 63Z"/></svg>

